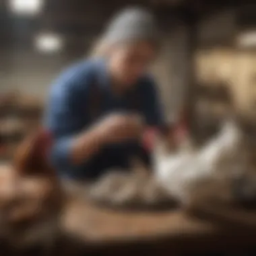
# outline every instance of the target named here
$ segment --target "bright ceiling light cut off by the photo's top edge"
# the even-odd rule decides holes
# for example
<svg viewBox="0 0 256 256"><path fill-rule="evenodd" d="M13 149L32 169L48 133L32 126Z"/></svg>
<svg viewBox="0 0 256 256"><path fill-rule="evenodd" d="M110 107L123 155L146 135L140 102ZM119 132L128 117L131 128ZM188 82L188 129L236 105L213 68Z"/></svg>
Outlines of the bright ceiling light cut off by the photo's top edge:
<svg viewBox="0 0 256 256"><path fill-rule="evenodd" d="M9 9L14 14L36 15L42 9L43 0L9 0Z"/></svg>

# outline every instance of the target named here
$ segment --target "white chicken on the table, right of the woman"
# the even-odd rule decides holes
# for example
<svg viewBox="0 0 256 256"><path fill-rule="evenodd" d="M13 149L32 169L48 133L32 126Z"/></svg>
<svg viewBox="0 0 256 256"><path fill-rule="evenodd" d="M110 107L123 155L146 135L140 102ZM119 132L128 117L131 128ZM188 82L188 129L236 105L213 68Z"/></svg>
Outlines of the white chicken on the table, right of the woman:
<svg viewBox="0 0 256 256"><path fill-rule="evenodd" d="M170 154L159 143L154 152L156 179L182 205L230 199L233 179L247 171L242 143L241 131L233 121L226 121L220 133L195 152Z"/></svg>

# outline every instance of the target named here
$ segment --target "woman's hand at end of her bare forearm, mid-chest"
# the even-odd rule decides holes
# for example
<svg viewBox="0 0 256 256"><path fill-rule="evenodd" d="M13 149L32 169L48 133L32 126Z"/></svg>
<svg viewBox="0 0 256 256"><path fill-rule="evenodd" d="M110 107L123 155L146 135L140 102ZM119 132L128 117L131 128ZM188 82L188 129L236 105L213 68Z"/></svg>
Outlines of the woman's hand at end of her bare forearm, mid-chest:
<svg viewBox="0 0 256 256"><path fill-rule="evenodd" d="M143 119L135 114L110 114L96 123L96 129L106 143L138 138L143 128Z"/></svg>

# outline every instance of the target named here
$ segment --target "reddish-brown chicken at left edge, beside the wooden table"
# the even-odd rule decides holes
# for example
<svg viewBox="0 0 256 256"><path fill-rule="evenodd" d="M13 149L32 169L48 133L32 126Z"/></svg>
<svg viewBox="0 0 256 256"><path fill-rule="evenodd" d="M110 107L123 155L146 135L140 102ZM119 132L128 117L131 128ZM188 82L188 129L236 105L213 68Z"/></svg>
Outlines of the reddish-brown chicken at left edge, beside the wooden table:
<svg viewBox="0 0 256 256"><path fill-rule="evenodd" d="M59 234L63 193L47 164L49 143L39 131L21 143L12 165L0 167L0 238L11 247L49 249Z"/></svg>

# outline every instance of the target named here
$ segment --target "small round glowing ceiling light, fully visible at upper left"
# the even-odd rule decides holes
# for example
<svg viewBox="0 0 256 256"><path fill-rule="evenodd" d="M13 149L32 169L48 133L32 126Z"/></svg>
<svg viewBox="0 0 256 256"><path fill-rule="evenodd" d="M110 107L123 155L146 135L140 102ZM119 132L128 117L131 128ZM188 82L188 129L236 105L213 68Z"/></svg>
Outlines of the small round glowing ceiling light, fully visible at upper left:
<svg viewBox="0 0 256 256"><path fill-rule="evenodd" d="M40 34L36 37L35 46L41 53L56 53L63 48L63 39L56 34Z"/></svg>

